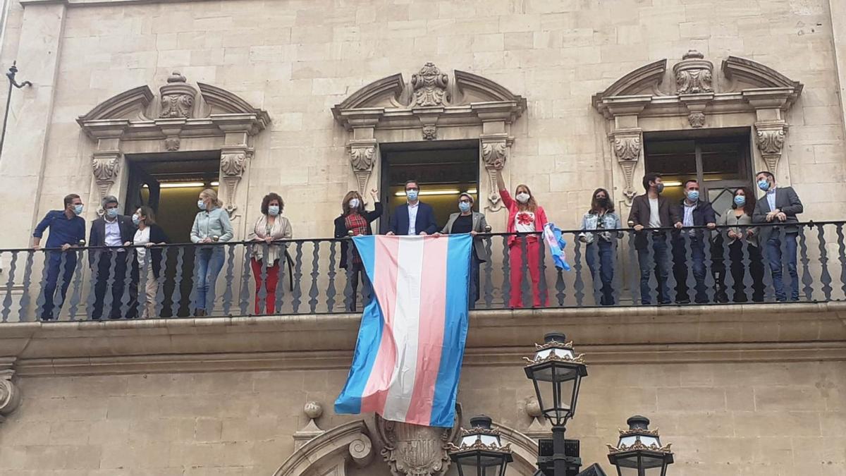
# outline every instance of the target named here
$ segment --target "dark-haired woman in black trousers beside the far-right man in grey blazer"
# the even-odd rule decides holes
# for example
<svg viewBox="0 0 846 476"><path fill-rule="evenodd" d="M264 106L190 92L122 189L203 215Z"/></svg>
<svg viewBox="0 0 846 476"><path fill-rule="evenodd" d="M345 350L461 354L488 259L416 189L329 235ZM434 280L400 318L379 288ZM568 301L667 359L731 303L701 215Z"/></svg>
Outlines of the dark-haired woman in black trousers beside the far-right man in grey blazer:
<svg viewBox="0 0 846 476"><path fill-rule="evenodd" d="M752 301L764 302L764 258L761 256L761 244L758 240L760 228L752 226L755 214L755 195L747 187L740 187L734 191L731 208L728 208L717 224L728 226L720 231L723 243L728 243L728 260L731 263L732 280L734 281L733 302L747 302L749 296L744 286L746 267L744 257L749 259L749 273L752 277ZM744 246L745 244L745 246ZM722 246L720 246L722 252ZM744 256L748 254L748 256ZM724 267L722 273L717 274L717 300L728 302L725 285Z"/></svg>

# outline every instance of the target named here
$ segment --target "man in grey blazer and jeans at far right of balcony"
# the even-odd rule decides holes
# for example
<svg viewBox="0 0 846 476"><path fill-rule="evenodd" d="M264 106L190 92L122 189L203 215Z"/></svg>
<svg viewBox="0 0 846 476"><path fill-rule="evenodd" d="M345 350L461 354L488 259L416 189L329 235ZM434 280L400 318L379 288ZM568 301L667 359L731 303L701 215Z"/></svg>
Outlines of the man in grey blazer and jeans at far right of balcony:
<svg viewBox="0 0 846 476"><path fill-rule="evenodd" d="M799 223L796 215L803 212L802 202L791 187L776 187L776 178L769 172L758 172L755 175L758 188L766 192L765 196L755 204L755 223ZM796 272L796 236L799 235L798 226L762 226L761 241L765 243L766 261L772 272L772 287L776 291L779 302L788 300L784 292L782 268L786 264L790 274L790 300L799 301L799 274ZM782 253L784 241L784 253Z"/></svg>

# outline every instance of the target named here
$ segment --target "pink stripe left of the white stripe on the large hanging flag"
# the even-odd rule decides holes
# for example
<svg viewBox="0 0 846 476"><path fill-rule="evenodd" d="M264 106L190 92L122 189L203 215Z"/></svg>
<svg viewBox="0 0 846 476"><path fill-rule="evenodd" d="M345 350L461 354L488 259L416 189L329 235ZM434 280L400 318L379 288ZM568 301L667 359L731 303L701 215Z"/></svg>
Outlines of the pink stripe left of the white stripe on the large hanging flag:
<svg viewBox="0 0 846 476"><path fill-rule="evenodd" d="M382 308L385 326L373 370L361 396L361 411L382 413L393 378L393 368L397 361L397 344L394 341L392 329L397 308L399 239L396 236L380 236L380 238L381 240L376 240L375 276L372 285L374 296L379 296L379 306Z"/></svg>

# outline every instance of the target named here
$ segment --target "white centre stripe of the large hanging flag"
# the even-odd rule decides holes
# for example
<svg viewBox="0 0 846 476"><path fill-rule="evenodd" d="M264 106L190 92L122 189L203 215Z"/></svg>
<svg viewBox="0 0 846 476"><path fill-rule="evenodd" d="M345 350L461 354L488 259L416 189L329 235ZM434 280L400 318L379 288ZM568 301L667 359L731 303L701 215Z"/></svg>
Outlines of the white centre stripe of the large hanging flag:
<svg viewBox="0 0 846 476"><path fill-rule="evenodd" d="M417 374L418 329L420 329L420 280L423 274L423 237L400 240L397 250L397 306L393 340L397 360L385 399L382 417L404 421L409 412Z"/></svg>

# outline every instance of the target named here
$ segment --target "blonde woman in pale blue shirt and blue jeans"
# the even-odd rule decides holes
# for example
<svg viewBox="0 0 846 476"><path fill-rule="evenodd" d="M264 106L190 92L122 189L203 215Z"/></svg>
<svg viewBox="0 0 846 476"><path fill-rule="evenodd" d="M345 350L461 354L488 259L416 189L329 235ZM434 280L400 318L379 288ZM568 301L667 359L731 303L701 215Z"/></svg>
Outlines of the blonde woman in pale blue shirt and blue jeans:
<svg viewBox="0 0 846 476"><path fill-rule="evenodd" d="M232 240L234 232L229 222L229 213L223 209L223 202L217 198L217 191L207 188L197 198L200 212L191 227L191 242L200 245L223 243ZM197 267L196 304L194 315L206 316L206 309L214 303L214 287L217 275L226 261L224 246L197 246L195 266Z"/></svg>

